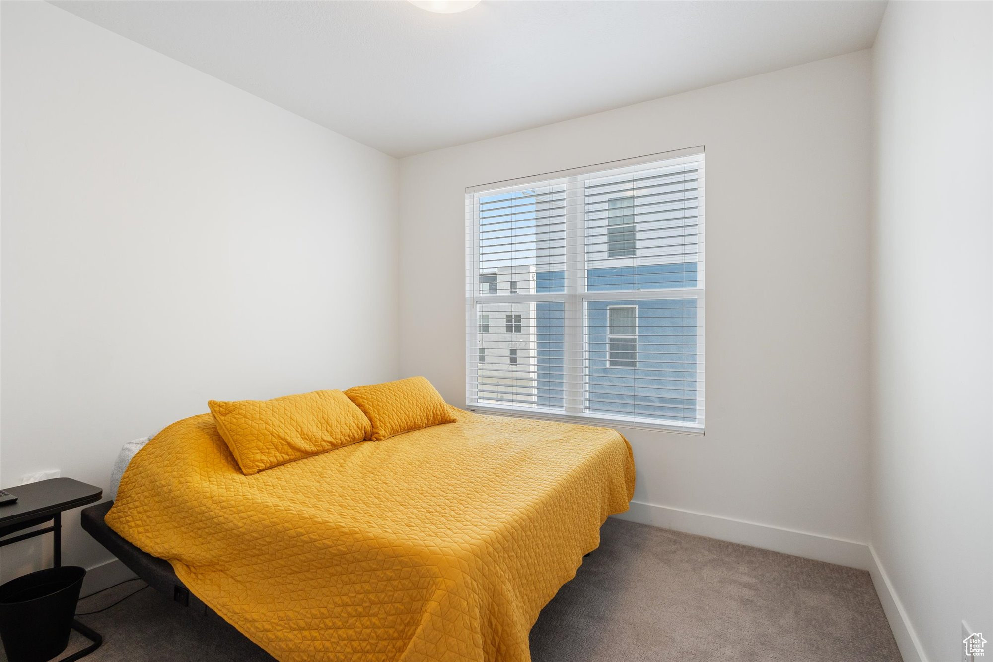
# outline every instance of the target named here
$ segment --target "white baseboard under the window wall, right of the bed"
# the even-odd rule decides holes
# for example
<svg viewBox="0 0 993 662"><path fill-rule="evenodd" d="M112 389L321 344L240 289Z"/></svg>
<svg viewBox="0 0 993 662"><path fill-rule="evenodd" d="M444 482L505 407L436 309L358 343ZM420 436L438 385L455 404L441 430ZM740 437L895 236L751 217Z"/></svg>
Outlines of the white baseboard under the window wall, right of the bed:
<svg viewBox="0 0 993 662"><path fill-rule="evenodd" d="M780 529L780 527L640 501L632 501L628 512L619 513L614 517L859 570L872 570L874 566L868 545L840 538Z"/></svg>

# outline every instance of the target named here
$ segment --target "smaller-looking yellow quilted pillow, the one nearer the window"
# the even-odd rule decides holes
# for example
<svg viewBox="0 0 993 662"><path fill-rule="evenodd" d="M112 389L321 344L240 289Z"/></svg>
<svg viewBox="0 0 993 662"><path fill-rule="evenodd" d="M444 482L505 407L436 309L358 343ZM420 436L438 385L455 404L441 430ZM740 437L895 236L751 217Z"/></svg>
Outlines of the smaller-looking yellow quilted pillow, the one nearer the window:
<svg viewBox="0 0 993 662"><path fill-rule="evenodd" d="M372 422L369 438L373 441L456 419L441 394L423 377L353 387L345 395Z"/></svg>

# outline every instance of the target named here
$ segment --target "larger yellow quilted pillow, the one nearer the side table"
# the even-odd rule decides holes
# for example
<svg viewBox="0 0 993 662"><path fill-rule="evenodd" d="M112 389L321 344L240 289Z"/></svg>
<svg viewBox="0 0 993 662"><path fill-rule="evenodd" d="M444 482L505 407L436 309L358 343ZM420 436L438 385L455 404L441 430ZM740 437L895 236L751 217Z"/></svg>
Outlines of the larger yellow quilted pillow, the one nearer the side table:
<svg viewBox="0 0 993 662"><path fill-rule="evenodd" d="M275 400L208 403L231 454L246 476L361 441L369 420L341 391Z"/></svg>

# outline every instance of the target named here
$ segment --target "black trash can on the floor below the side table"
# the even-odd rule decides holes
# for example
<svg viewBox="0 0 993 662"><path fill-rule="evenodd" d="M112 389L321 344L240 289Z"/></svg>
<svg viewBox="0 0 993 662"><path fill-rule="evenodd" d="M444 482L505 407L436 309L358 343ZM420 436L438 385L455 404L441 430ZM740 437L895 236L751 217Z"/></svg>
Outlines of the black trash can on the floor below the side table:
<svg viewBox="0 0 993 662"><path fill-rule="evenodd" d="M44 662L66 650L85 576L63 566L0 585L0 637L10 662Z"/></svg>

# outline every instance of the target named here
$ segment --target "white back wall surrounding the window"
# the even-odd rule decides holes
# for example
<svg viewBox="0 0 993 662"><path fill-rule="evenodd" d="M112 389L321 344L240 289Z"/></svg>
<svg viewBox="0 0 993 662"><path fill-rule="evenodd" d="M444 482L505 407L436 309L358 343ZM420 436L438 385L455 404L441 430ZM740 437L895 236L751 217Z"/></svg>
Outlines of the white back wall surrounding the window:
<svg viewBox="0 0 993 662"><path fill-rule="evenodd" d="M467 186L705 145L707 433L620 428L635 499L868 542L869 97L860 52L403 159L401 372L465 403Z"/></svg>

